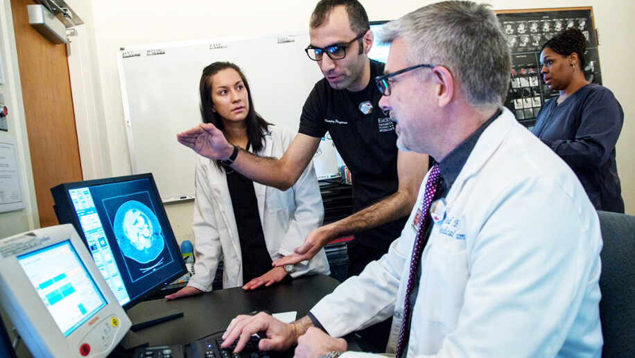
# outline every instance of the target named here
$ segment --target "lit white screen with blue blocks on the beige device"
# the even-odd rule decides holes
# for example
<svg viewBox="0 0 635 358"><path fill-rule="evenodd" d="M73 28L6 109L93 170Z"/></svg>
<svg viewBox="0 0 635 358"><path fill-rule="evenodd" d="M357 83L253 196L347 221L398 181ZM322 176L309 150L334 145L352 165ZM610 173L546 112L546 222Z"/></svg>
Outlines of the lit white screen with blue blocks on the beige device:
<svg viewBox="0 0 635 358"><path fill-rule="evenodd" d="M106 305L106 300L71 242L17 256L24 274L68 337Z"/></svg>

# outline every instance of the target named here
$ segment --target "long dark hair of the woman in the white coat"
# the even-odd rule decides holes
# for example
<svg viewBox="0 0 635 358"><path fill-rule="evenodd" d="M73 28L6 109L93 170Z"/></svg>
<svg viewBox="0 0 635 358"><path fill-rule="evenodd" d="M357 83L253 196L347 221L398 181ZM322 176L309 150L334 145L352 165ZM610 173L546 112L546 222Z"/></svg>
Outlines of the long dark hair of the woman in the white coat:
<svg viewBox="0 0 635 358"><path fill-rule="evenodd" d="M249 83L241 68L233 64L232 62L214 62L203 69L203 73L200 76L200 84L198 86L200 92L200 114L203 119L203 123L211 123L221 131L225 130L223 120L218 113L214 111L214 102L211 101L211 77L216 73L223 71L224 69L234 69L241 76L245 89L247 89L247 100L249 101L249 111L245 118L247 124L247 138L251 143L251 147L254 152L259 152L264 145L265 133L267 132L268 123L254 109L254 102L252 101L252 91L249 89ZM217 161L218 164L218 161Z"/></svg>

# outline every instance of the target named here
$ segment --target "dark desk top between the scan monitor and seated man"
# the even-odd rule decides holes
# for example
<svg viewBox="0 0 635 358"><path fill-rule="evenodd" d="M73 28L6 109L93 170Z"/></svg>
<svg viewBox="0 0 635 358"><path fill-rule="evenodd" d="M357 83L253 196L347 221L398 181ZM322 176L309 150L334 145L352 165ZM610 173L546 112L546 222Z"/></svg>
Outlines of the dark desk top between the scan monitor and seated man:
<svg viewBox="0 0 635 358"><path fill-rule="evenodd" d="M167 311L180 311L183 312L183 316L137 332L128 332L121 343L127 347L143 343L150 346L186 345L225 330L238 314L256 310L272 313L297 311L299 319L305 316L320 298L333 292L339 284L338 280L329 276L307 275L253 291L234 287L173 301L157 299L142 302L128 311L133 323L143 316Z"/></svg>

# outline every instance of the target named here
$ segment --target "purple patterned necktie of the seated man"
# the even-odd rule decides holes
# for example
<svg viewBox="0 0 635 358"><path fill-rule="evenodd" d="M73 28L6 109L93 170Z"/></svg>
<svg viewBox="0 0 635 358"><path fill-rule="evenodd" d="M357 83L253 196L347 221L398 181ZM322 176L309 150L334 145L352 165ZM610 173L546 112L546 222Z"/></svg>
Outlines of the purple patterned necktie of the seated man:
<svg viewBox="0 0 635 358"><path fill-rule="evenodd" d="M428 175L428 181L426 181L426 193L421 198L421 214L419 215L419 220L417 222L417 226L419 226L419 231L417 231L417 240L415 240L415 247L412 249L412 259L410 260L410 274L408 275L408 287L406 288L406 303L403 305L403 320L401 321L401 330L399 331L399 341L397 341L397 358L401 358L403 356L404 350L406 349L406 330L409 328L408 321L410 320L410 292L412 291L412 282L415 280L417 269L419 268L419 263L421 262L421 253L424 251L424 235L426 235L427 224L430 220L430 204L432 204L432 200L435 197L435 193L437 191L437 186L441 181L441 174L439 172L439 164L435 163L433 165L432 170L430 170L430 174Z"/></svg>

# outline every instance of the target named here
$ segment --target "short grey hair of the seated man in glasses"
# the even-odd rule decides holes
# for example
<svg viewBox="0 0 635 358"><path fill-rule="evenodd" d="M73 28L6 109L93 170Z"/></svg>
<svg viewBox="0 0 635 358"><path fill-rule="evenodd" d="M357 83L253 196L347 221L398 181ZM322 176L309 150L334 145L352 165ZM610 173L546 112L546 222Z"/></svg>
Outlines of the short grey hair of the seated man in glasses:
<svg viewBox="0 0 635 358"><path fill-rule="evenodd" d="M389 22L381 42L406 42L406 60L442 65L458 80L474 107L500 106L510 84L511 57L505 34L487 4L443 1Z"/></svg>

